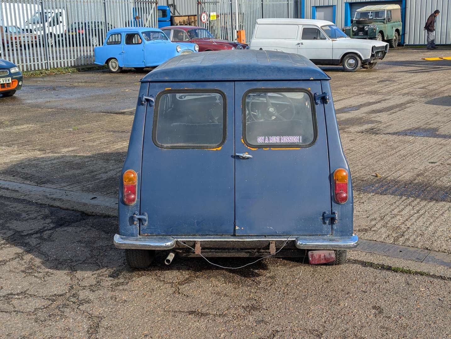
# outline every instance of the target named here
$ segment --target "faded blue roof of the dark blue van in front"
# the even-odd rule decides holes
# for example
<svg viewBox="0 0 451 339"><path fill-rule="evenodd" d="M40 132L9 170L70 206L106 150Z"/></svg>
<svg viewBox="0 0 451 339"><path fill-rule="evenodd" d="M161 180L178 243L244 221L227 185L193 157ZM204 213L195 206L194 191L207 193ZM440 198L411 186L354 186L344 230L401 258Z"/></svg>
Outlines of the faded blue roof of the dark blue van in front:
<svg viewBox="0 0 451 339"><path fill-rule="evenodd" d="M148 73L148 81L330 80L299 54L272 50L220 50L179 55Z"/></svg>

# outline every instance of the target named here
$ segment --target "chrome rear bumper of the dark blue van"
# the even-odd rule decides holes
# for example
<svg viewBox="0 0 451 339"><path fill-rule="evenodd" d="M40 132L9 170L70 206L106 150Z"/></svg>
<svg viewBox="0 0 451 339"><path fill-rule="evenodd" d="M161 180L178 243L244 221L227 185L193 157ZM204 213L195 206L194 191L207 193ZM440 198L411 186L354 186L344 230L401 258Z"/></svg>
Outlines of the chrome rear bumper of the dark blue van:
<svg viewBox="0 0 451 339"><path fill-rule="evenodd" d="M357 235L349 237L334 237L331 235L284 235L275 236L234 236L234 235L144 235L127 237L116 234L114 245L118 249L173 249L176 240L222 242L222 241L294 241L298 249L354 249L359 238Z"/></svg>

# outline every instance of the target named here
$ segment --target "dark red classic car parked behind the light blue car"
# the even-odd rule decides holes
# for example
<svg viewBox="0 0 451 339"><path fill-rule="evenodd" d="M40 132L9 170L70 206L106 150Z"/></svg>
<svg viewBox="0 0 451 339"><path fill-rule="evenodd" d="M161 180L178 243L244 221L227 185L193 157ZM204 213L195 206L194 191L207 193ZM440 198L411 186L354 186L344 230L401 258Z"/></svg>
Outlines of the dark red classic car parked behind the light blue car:
<svg viewBox="0 0 451 339"><path fill-rule="evenodd" d="M173 42L192 42L199 45L199 52L206 50L249 50L249 46L239 42L216 39L203 27L168 26L162 27L166 36Z"/></svg>

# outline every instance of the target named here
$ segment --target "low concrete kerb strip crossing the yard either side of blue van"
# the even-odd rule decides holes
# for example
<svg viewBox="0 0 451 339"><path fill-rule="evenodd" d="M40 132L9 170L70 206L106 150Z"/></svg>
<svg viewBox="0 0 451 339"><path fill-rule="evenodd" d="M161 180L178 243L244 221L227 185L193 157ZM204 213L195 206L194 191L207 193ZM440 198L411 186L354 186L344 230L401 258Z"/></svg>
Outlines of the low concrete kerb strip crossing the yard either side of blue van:
<svg viewBox="0 0 451 339"><path fill-rule="evenodd" d="M106 217L117 216L117 199L98 194L88 194L83 192L29 185L14 181L0 180L0 195L9 198L25 199L53 207L84 212L88 215L100 215ZM434 252L427 249L418 249L414 247L360 239L359 245L353 253L356 252L371 253L376 254L379 257L383 256L400 259L404 265L406 261L414 261L421 263L422 265L432 264L451 268L451 254ZM355 254L352 256L357 258L359 257ZM449 273L448 276L451 276L451 273Z"/></svg>

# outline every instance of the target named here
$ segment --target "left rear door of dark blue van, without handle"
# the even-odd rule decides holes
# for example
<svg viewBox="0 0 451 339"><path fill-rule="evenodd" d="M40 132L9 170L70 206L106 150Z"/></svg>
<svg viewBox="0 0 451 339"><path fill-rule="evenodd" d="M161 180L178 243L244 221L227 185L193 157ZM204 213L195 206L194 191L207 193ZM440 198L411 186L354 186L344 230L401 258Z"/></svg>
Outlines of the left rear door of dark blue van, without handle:
<svg viewBox="0 0 451 339"><path fill-rule="evenodd" d="M195 84L149 84L141 235L233 235L234 84Z"/></svg>

